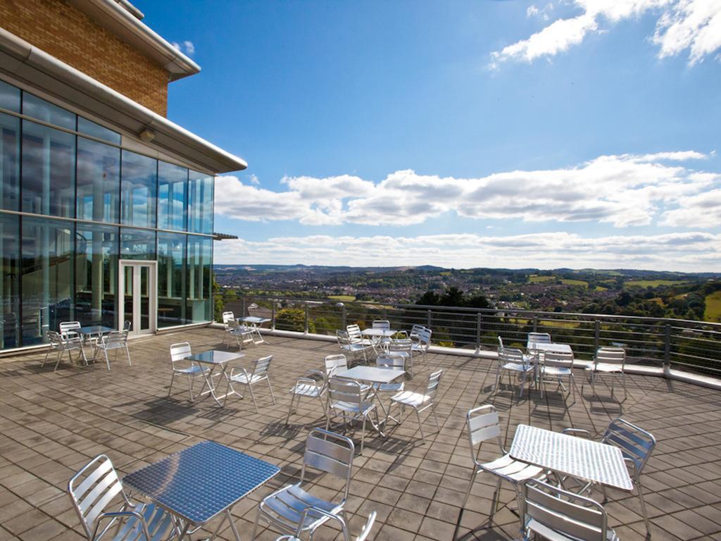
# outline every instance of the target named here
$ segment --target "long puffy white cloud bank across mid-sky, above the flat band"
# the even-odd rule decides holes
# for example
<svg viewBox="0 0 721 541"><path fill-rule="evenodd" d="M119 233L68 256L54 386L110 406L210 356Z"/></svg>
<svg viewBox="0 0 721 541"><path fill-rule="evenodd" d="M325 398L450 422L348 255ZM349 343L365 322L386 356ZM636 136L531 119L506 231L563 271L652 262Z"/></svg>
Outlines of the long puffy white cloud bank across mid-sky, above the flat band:
<svg viewBox="0 0 721 541"><path fill-rule="evenodd" d="M247 221L291 220L306 225L412 225L444 213L471 219L529 222L595 221L616 227L652 224L693 197L720 188L721 175L689 169L707 158L697 151L601 156L557 170L500 172L456 178L396 171L381 182L354 175L286 177L283 191L216 182L216 211ZM249 182L253 182L250 180ZM694 203L695 204L695 203ZM696 226L714 227L712 219Z"/></svg>

